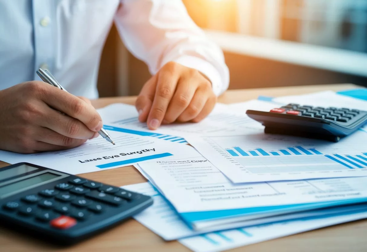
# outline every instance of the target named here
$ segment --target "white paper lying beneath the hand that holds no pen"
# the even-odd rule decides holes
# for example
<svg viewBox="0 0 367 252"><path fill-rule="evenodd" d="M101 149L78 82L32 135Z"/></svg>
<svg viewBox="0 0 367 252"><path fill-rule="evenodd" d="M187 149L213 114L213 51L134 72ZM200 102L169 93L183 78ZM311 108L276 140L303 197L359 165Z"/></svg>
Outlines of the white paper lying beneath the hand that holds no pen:
<svg viewBox="0 0 367 252"><path fill-rule="evenodd" d="M260 123L252 120L246 115L247 109L257 109L269 111L275 105L270 102L251 100L241 103L240 106L230 107L230 105L216 104L213 111L199 123L173 123L170 125L161 125L157 130L149 130L146 123L138 121L138 113L134 106L126 104L112 104L99 112L108 126L122 129L143 131L146 136L159 137L179 142L180 140L172 138L180 136L185 138L188 135L220 135L230 136L246 134L254 129L261 128ZM124 111L116 115L116 111ZM107 129L112 129L106 127ZM181 140L182 141L182 140Z"/></svg>

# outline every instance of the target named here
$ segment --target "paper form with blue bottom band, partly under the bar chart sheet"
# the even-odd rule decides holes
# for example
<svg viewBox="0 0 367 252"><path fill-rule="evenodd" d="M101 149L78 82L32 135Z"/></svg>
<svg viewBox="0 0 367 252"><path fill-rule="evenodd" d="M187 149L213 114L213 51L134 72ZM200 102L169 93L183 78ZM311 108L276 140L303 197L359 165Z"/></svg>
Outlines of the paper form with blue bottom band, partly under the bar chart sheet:
<svg viewBox="0 0 367 252"><path fill-rule="evenodd" d="M201 156L138 165L196 230L367 201L367 177L232 184Z"/></svg>

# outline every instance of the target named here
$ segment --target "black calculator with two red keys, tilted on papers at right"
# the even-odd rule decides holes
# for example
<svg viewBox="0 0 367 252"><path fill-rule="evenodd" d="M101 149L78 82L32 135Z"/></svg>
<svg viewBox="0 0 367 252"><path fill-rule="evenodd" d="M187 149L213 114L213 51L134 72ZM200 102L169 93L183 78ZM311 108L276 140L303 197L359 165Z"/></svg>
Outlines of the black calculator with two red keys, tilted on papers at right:
<svg viewBox="0 0 367 252"><path fill-rule="evenodd" d="M265 133L318 138L338 142L367 122L367 111L350 108L288 104L270 112L247 110L265 126Z"/></svg>

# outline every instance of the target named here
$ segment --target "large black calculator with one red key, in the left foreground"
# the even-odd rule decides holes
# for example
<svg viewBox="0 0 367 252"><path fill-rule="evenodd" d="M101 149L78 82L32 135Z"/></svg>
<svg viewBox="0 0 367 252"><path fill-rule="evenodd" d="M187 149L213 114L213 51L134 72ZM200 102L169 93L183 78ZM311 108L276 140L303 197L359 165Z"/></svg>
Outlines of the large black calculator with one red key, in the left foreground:
<svg viewBox="0 0 367 252"><path fill-rule="evenodd" d="M149 196L30 163L0 169L0 223L62 245L152 204Z"/></svg>

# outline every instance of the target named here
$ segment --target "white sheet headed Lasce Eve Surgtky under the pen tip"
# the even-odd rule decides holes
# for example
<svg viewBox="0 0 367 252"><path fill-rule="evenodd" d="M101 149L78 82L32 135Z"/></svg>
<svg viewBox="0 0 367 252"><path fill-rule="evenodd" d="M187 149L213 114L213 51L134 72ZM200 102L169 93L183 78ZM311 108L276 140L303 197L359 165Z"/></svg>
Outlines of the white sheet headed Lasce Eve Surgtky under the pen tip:
<svg viewBox="0 0 367 252"><path fill-rule="evenodd" d="M116 145L98 137L70 150L37 154L0 151L0 160L8 163L29 162L61 172L80 174L128 166L146 160L162 160L167 156L177 154L186 156L197 153L188 145L175 144L158 138L107 131Z"/></svg>

